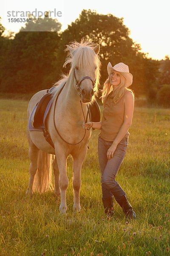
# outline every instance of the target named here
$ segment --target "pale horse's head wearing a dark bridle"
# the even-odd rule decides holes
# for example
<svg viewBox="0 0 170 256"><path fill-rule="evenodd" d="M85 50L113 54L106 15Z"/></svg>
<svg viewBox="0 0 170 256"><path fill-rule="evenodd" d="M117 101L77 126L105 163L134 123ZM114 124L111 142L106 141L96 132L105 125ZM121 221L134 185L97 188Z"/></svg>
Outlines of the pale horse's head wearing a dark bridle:
<svg viewBox="0 0 170 256"><path fill-rule="evenodd" d="M82 102L91 102L94 92L98 92L100 61L99 45L92 47L89 42L74 43L67 46L71 58L72 75Z"/></svg>

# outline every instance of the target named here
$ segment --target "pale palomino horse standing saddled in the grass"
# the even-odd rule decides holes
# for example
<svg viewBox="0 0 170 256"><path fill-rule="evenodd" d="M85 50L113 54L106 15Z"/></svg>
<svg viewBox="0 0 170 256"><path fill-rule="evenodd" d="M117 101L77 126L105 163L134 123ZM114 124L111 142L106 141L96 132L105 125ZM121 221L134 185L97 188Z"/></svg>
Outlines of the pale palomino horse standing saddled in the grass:
<svg viewBox="0 0 170 256"><path fill-rule="evenodd" d="M79 191L81 186L81 169L85 159L91 131L84 130L82 123L88 117L88 105L98 93L100 61L99 45L94 47L89 42L74 42L67 46L71 63L68 76L64 76L52 88L53 96L46 127L54 148L45 140L42 131L27 128L29 143L29 185L27 195L32 197L34 191L45 192L51 186L51 154L53 162L55 194L61 193L60 212L67 211L66 189L68 177L66 172L67 157L73 157L74 209L80 211ZM63 89L61 90L61 88ZM28 105L28 120L46 90L36 93ZM86 118L89 120L89 117ZM87 121L86 120L86 121Z"/></svg>

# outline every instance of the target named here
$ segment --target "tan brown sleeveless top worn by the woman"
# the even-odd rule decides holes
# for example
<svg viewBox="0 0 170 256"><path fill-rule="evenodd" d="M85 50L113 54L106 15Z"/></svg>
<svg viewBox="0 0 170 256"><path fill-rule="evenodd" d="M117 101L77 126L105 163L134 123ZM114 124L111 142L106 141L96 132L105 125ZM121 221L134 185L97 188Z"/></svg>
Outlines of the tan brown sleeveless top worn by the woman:
<svg viewBox="0 0 170 256"><path fill-rule="evenodd" d="M108 98L104 104L103 116L102 116L102 129L99 134L103 140L113 141L124 122L125 105L124 99L127 93L130 91L125 89L125 93L122 98L114 104L112 92L108 94ZM129 137L129 131L125 134L125 137Z"/></svg>

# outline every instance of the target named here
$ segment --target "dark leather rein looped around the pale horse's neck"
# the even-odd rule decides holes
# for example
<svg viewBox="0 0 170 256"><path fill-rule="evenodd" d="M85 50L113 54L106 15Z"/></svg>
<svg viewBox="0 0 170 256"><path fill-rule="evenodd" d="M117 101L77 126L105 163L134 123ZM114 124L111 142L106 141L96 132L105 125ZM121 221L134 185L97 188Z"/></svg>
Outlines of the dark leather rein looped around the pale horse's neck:
<svg viewBox="0 0 170 256"><path fill-rule="evenodd" d="M80 103L81 103L81 108L82 108L82 96L81 96L81 91L82 91L82 89L80 88L80 84L81 84L81 82L82 82L83 80L89 79L89 80L92 81L93 89L94 89L95 83L96 83L96 79L95 79L95 81L93 81L90 76L84 76L84 77L78 82L78 81L77 81L77 77L76 77L76 67L74 67L74 79L75 79L75 81L76 81L76 86L77 86L77 90L78 90L78 92L79 92ZM66 82L65 82L65 84L66 84ZM61 134L59 133L59 131L58 131L57 127L56 127L56 123L55 123L55 108L56 108L56 104L57 104L57 99L58 99L60 93L62 92L62 89L64 88L65 84L64 84L64 85L62 86L62 88L59 90L59 93L57 94L57 97L56 97L56 100L55 100L55 104L54 104L54 113L53 113L54 127L55 127L55 130L57 131L57 134L59 135L59 137L60 137L65 143L67 143L67 144L69 144L69 145L77 145L77 144L81 143L82 140L84 139L85 134L86 134L86 129L85 129L85 134L84 134L82 140L80 140L78 143L69 143L69 142L67 142L66 140L64 140L64 139L62 138ZM84 117L85 122L88 121L88 115L89 115L89 118L90 118L90 120L91 120L91 114L90 114L88 105L87 105L87 108L88 108L88 111L87 111L86 118L85 118L85 114L84 114L84 111L83 111L83 108L82 108L82 113L83 113L83 117Z"/></svg>

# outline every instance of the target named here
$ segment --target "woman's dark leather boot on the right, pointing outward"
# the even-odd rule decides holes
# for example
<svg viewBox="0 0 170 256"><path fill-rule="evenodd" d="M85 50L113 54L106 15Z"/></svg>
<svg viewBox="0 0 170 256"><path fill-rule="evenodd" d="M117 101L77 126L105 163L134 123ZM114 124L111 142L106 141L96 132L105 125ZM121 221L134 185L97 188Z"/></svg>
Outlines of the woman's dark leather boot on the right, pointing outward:
<svg viewBox="0 0 170 256"><path fill-rule="evenodd" d="M136 213L133 211L133 208L130 205L126 195L123 195L122 198L117 202L122 207L123 211L125 212L126 218L129 218L129 219L136 218Z"/></svg>

